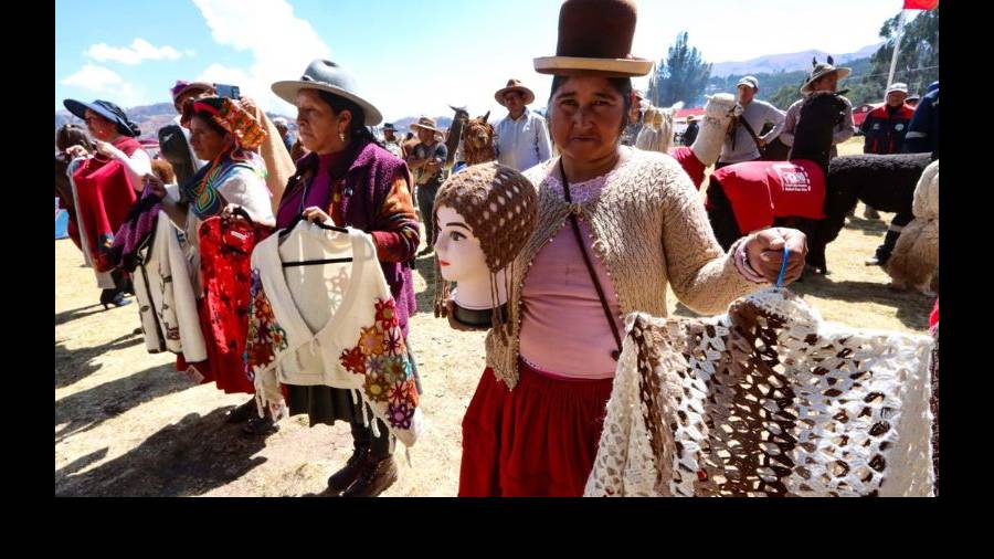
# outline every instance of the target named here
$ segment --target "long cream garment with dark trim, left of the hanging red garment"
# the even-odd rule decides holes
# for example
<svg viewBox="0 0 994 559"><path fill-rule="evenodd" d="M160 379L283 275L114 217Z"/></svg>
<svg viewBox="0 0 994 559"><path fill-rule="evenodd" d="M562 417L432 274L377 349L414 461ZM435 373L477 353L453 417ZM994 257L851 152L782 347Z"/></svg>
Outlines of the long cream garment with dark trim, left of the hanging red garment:
<svg viewBox="0 0 994 559"><path fill-rule="evenodd" d="M176 188L166 187L173 198ZM194 272L179 242L180 234L160 212L155 232L137 252L135 296L146 349L150 354L168 350L198 363L205 361L208 354L197 313Z"/></svg>

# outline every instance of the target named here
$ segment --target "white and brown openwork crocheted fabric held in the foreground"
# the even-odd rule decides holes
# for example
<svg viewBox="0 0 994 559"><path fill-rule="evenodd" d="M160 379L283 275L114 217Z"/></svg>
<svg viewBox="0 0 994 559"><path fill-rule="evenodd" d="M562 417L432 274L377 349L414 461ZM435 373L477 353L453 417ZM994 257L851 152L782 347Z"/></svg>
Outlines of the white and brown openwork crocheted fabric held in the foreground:
<svg viewBox="0 0 994 559"><path fill-rule="evenodd" d="M626 323L586 496L932 495L930 337L779 289Z"/></svg>

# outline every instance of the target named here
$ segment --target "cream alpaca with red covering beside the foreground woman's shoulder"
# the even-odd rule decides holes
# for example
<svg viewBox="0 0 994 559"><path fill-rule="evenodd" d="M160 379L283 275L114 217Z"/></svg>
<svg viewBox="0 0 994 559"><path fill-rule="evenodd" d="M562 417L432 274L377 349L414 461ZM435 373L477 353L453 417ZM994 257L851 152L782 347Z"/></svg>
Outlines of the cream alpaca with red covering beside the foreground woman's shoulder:
<svg viewBox="0 0 994 559"><path fill-rule="evenodd" d="M705 170L718 162L721 146L731 125L732 118L742 114L742 106L736 102L734 95L719 93L707 97L705 116L700 120L700 131L690 147L679 146L669 150L687 171L694 184L700 189L705 179Z"/></svg>

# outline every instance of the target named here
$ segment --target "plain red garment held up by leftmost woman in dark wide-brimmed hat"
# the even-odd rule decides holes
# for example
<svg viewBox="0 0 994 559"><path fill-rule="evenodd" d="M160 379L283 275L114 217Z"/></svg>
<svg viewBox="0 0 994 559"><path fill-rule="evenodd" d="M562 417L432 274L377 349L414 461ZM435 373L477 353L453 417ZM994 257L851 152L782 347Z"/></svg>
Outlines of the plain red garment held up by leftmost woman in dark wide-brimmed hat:
<svg viewBox="0 0 994 559"><path fill-rule="evenodd" d="M114 140L114 147L131 157L141 145L135 138L121 136ZM114 232L125 221L131 205L138 200L128 170L116 159L107 160L103 156L87 159L73 173L76 182L82 223L86 231L94 267L97 272L107 272L113 264L106 252L114 244Z"/></svg>

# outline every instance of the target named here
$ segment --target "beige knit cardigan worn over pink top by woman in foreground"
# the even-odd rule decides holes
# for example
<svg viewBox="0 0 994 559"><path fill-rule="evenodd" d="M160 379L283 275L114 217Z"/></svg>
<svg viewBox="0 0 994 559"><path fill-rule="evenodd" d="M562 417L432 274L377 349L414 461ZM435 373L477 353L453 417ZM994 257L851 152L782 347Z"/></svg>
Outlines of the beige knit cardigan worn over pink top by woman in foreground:
<svg viewBox="0 0 994 559"><path fill-rule="evenodd" d="M622 150L618 166L601 179L601 193L582 203L563 199L558 158L525 172L538 189L538 224L508 267L507 333L491 329L486 339L487 366L509 389L518 383L521 288L535 257L567 224L570 212L590 224L588 249L605 265L622 317L635 312L667 316L667 286L705 315L723 313L736 298L765 286L736 268L738 243L728 254L721 250L697 189L674 158Z"/></svg>

